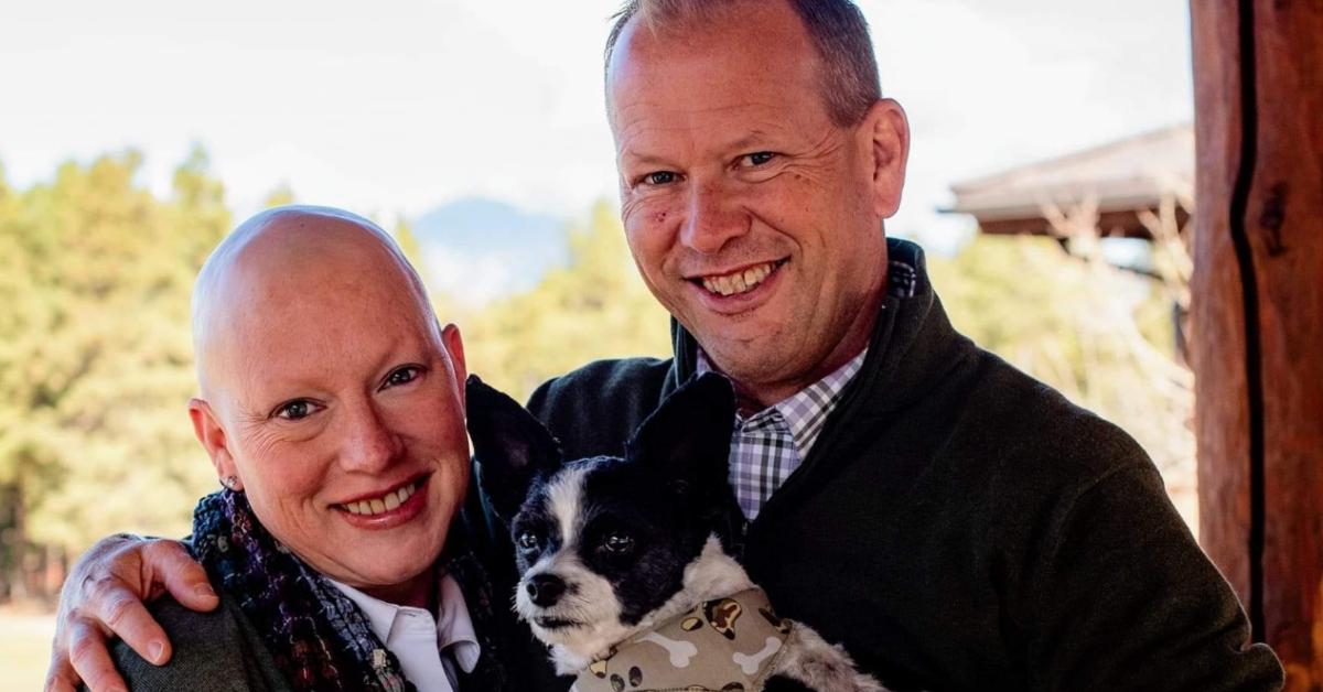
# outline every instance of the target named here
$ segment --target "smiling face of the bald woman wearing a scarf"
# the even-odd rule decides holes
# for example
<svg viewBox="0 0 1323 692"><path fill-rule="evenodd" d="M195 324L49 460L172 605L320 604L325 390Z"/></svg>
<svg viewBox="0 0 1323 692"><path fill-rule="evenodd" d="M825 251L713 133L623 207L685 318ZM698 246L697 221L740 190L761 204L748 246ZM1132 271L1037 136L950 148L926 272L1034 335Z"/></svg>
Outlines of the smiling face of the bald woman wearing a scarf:
<svg viewBox="0 0 1323 692"><path fill-rule="evenodd" d="M468 483L459 335L438 333L398 267L372 257L288 258L253 281L209 377L254 513L368 590L431 566Z"/></svg>

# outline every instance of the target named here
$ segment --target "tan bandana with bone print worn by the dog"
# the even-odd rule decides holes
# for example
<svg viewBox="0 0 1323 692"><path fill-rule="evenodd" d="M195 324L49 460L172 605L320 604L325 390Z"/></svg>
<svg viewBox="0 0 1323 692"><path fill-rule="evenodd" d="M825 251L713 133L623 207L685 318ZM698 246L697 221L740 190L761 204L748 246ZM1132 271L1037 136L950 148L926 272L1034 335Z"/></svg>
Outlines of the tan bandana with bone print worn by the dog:
<svg viewBox="0 0 1323 692"><path fill-rule="evenodd" d="M794 626L762 589L705 601L613 647L570 692L758 692Z"/></svg>

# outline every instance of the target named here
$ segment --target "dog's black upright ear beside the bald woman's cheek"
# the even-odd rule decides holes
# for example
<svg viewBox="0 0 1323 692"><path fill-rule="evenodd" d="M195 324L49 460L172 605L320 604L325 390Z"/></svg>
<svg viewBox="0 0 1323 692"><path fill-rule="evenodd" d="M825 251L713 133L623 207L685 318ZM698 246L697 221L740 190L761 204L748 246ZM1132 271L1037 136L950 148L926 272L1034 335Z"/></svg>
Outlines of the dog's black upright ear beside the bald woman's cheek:
<svg viewBox="0 0 1323 692"><path fill-rule="evenodd" d="M542 474L561 464L561 446L532 413L476 376L467 386L468 437L478 459L478 484L509 524Z"/></svg>

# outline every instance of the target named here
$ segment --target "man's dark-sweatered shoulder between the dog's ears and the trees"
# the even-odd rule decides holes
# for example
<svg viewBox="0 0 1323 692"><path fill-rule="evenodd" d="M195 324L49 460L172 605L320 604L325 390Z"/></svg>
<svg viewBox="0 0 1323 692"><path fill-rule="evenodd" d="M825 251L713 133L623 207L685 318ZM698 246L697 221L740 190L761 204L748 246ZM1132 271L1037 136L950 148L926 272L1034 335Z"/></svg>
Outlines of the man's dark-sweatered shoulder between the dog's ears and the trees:
<svg viewBox="0 0 1323 692"><path fill-rule="evenodd" d="M546 381L528 400L569 459L620 454L673 386L673 360L598 360Z"/></svg>

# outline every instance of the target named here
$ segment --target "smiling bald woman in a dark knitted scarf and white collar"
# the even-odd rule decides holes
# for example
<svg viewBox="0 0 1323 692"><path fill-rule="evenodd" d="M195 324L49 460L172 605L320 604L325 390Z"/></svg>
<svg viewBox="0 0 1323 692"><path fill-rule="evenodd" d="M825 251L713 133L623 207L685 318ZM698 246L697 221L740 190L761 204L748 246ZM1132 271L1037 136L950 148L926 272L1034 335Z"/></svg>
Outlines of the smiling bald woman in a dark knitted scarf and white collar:
<svg viewBox="0 0 1323 692"><path fill-rule="evenodd" d="M197 564L159 548L197 595L152 606L148 651L116 644L128 687L516 688L495 658L519 648L511 615L455 528L463 344L390 237L337 209L250 218L202 267L193 341L189 415L222 490L194 512ZM208 589L220 607L184 607Z"/></svg>

